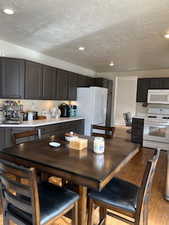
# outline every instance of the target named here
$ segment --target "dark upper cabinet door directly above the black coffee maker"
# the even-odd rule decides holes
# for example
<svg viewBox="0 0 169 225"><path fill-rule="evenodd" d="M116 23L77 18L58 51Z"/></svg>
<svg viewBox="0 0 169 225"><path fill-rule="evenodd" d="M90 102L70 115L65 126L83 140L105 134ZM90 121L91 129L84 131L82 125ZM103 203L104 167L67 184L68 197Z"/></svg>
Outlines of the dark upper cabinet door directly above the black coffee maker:
<svg viewBox="0 0 169 225"><path fill-rule="evenodd" d="M57 100L68 99L68 73L60 69L57 72Z"/></svg>

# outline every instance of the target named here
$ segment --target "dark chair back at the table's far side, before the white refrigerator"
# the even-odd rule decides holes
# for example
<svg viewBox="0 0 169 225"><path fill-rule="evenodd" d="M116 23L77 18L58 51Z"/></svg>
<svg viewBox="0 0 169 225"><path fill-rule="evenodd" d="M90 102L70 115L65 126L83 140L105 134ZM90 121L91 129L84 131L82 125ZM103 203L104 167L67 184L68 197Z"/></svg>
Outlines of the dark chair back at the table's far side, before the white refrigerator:
<svg viewBox="0 0 169 225"><path fill-rule="evenodd" d="M107 127L107 126L100 126L100 125L92 125L91 127L91 135L95 137L104 137L104 138L113 138L114 132L115 132L115 127ZM99 130L99 131L104 131L104 133L97 133L93 130Z"/></svg>

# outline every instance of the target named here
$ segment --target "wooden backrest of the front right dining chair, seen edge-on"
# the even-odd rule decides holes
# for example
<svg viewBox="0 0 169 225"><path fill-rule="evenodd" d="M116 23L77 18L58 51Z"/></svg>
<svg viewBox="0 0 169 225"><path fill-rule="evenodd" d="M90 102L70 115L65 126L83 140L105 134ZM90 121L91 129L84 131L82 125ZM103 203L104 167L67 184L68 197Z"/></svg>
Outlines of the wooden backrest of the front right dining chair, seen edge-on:
<svg viewBox="0 0 169 225"><path fill-rule="evenodd" d="M153 183L153 178L155 174L156 165L160 156L160 150L155 150L152 160L147 162L147 166L142 179L140 191L138 193L137 208L136 208L136 218L137 221L140 220L141 215L147 216L148 214L148 202L150 199L151 188ZM139 224L138 224L139 225Z"/></svg>

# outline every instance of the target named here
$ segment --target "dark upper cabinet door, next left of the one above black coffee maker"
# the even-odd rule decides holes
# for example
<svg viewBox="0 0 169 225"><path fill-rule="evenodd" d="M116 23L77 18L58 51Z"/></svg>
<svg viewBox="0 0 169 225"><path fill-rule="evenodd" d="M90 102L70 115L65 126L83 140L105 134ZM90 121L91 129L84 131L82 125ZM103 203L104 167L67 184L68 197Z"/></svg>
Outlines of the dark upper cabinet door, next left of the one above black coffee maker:
<svg viewBox="0 0 169 225"><path fill-rule="evenodd" d="M43 66L43 99L56 99L56 69Z"/></svg>

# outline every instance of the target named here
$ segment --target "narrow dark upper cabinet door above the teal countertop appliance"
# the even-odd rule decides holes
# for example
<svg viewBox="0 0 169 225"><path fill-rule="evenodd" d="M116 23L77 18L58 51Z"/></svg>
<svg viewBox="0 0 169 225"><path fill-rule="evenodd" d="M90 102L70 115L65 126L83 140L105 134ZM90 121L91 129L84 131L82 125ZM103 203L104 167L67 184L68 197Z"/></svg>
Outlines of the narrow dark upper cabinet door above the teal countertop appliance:
<svg viewBox="0 0 169 225"><path fill-rule="evenodd" d="M77 99L77 74L69 73L68 76L68 100L76 100Z"/></svg>

